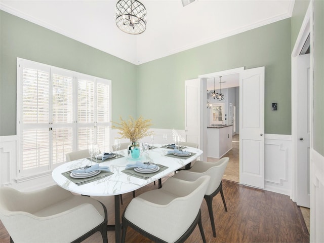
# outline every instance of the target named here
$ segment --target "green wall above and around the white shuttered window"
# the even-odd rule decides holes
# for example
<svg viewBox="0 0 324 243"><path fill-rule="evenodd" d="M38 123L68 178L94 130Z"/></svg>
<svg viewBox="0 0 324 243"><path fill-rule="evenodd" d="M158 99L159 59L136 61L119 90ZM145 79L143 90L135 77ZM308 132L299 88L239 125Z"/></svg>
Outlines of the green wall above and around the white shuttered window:
<svg viewBox="0 0 324 243"><path fill-rule="evenodd" d="M0 30L0 136L16 134L17 57L110 79L112 119L136 116L136 65L4 11Z"/></svg>

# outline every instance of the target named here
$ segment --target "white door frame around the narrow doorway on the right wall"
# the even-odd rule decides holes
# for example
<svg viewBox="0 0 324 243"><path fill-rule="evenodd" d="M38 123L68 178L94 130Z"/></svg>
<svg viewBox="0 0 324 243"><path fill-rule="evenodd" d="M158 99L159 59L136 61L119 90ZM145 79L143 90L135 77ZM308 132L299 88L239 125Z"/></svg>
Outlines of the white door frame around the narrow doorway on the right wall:
<svg viewBox="0 0 324 243"><path fill-rule="evenodd" d="M304 46L304 43L308 37L308 34L311 33L311 5L309 4L307 12L305 14L304 21L300 28L299 34L297 36L294 49L292 51L291 63L292 63L292 200L297 201L297 142L298 142L298 131L297 131L297 120L298 120L298 107L297 107L297 85L298 85L298 56ZM313 84L310 85L310 99L313 98ZM312 109L310 111L310 116L312 116ZM313 134L313 126L310 123L310 136ZM310 147L312 148L312 139L310 139Z"/></svg>

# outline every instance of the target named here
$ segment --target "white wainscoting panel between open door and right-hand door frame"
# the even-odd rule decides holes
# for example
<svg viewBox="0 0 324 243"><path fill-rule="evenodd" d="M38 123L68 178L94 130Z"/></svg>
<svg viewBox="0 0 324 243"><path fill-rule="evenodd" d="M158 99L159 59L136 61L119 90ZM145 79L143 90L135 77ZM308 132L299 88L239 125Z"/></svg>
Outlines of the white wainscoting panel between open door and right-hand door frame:
<svg viewBox="0 0 324 243"><path fill-rule="evenodd" d="M264 157L265 190L291 196L291 135L265 134Z"/></svg>

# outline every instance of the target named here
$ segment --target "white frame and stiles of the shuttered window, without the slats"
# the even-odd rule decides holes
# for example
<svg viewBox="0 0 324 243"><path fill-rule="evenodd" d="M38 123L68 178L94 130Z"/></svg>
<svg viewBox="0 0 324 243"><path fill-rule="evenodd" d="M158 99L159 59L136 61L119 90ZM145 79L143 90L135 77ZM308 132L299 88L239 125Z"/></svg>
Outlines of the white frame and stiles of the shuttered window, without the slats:
<svg viewBox="0 0 324 243"><path fill-rule="evenodd" d="M31 123L31 124L26 124L23 122L23 70L24 68L33 68L33 69L37 69L37 72L39 70L46 70L49 73L49 83L48 83L48 105L49 105L49 114L48 114L48 122L47 123ZM64 74L67 73L69 74L72 78L72 120L71 122L63 122L63 123L53 123L53 96L52 96L52 92L53 92L53 75L57 74ZM63 161L56 163L55 161L53 161L54 158L54 154L53 154L53 130L55 129L65 129L65 128L71 128L72 129L72 138L71 138L71 150L65 151L65 149L63 150L64 155L67 152L71 152L71 151L76 151L79 150L78 148L78 134L77 134L77 129L79 127L78 124L78 117L77 117L77 83L78 83L78 77L87 77L87 78L91 78L94 82L94 86L96 87L97 82L98 83L103 83L105 84L105 86L108 87L108 94L104 94L104 95L108 95L108 99L105 100L108 102L108 111L107 114L105 114L107 117L107 120L103 123L100 123L100 126L104 126L105 127L105 131L108 131L108 136L109 134L111 134L111 80L109 79L104 79L104 78L99 78L99 77L95 77L95 76L91 76L91 75L87 75L87 74L83 74L83 73L78 73L75 71L71 71L71 70L67 70L67 69L63 69L63 68L58 68L55 66L51 66L51 65L47 65L47 64L43 64L43 63L38 63L38 62L34 62L34 61L30 61L30 60L26 60L26 59L22 59L22 58L17 58L17 177L18 180L19 178L33 178L33 177L37 177L39 175L42 174L49 174L53 171L53 169L55 169L57 166L63 164L66 162L66 158L65 156L62 158ZM65 76L64 76L65 77ZM95 88L95 93L96 93L96 88ZM36 92L36 94L38 94ZM37 95L38 97L38 95ZM65 98L65 96L64 96ZM38 101L38 100L37 100ZM94 102L96 103L96 99L94 100ZM95 104L96 106L96 104ZM64 106L65 107L65 106ZM105 106L107 107L107 105ZM37 110L38 111L38 110ZM38 115L38 114L37 114ZM36 116L37 116L36 115ZM65 114L63 114L64 116ZM96 123L96 113L94 113L93 115L93 119L94 119L94 123L92 123L91 126L94 127L94 133L97 133L97 123ZM47 131L49 131L48 134L48 138L49 138L49 151L48 151L48 163L45 163L45 166L39 166L37 165L35 168L32 169L23 169L23 132L26 131L27 129L34 129L35 131L38 131L38 129L46 129ZM45 130L44 130L45 131ZM58 131L58 130L57 130ZM93 143L97 143L96 142L96 137ZM107 147L109 149L110 146L110 140L109 138L105 139L105 144L107 144ZM108 142L107 142L108 141ZM34 147L35 148L35 147ZM58 148L57 146L55 147L56 149ZM106 147L105 147L106 148ZM101 148L102 150L104 150L105 148ZM35 155L34 155L35 156Z"/></svg>

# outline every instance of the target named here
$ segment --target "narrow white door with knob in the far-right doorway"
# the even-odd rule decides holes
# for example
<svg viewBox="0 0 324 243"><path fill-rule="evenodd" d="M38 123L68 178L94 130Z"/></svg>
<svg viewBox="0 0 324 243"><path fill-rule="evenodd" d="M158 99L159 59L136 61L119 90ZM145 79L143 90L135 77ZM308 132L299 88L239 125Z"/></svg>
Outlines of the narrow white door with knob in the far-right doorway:
<svg viewBox="0 0 324 243"><path fill-rule="evenodd" d="M297 58L297 205L310 207L310 54Z"/></svg>

